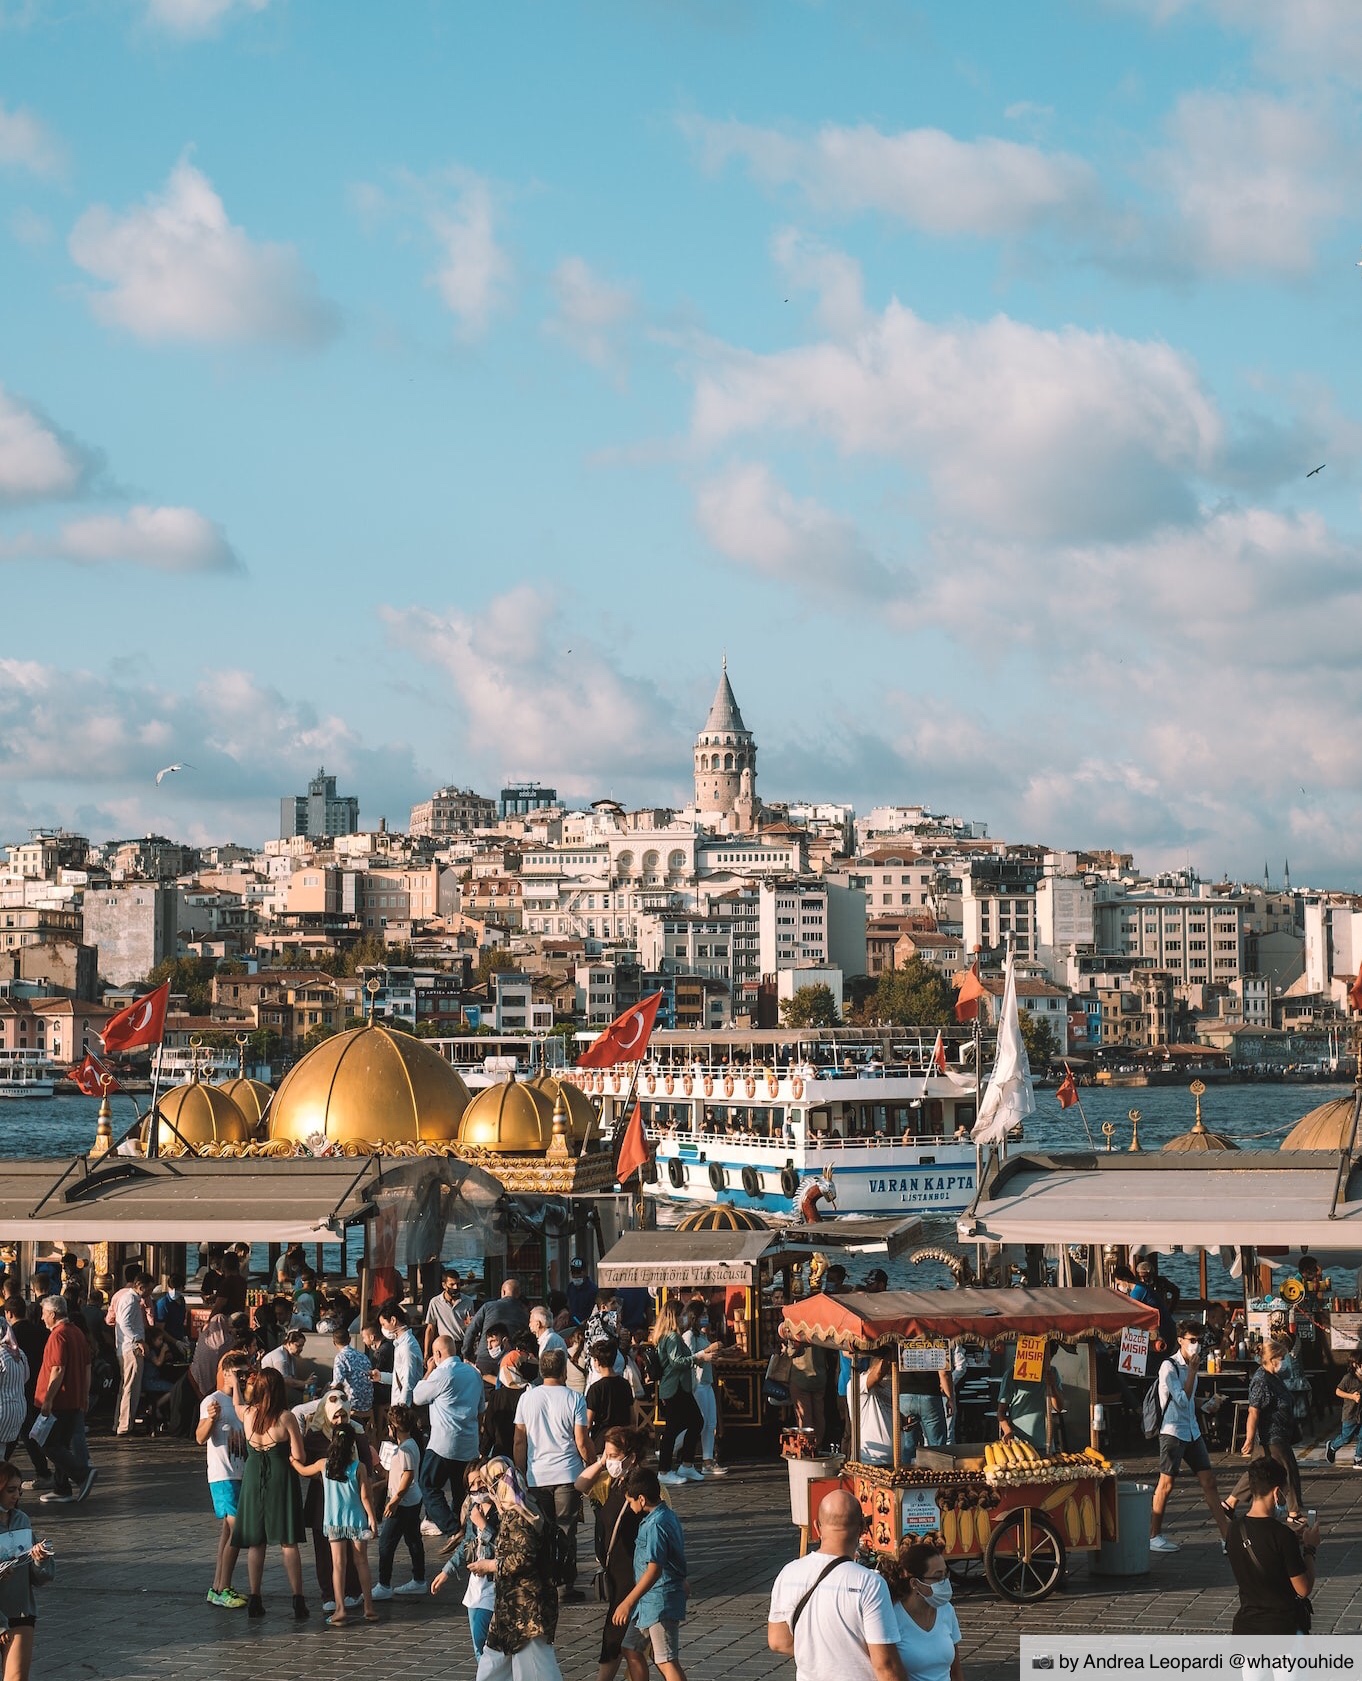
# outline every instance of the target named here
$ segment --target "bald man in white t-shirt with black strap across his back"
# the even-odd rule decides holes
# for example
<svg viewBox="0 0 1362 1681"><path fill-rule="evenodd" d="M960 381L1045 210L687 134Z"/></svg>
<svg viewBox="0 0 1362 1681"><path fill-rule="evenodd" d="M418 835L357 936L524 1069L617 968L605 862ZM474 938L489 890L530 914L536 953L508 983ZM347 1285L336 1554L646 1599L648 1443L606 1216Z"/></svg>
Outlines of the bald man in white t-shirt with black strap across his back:
<svg viewBox="0 0 1362 1681"><path fill-rule="evenodd" d="M795 1558L770 1592L767 1646L795 1661L795 1681L906 1681L881 1575L856 1563L861 1504L846 1489L819 1506L819 1550Z"/></svg>

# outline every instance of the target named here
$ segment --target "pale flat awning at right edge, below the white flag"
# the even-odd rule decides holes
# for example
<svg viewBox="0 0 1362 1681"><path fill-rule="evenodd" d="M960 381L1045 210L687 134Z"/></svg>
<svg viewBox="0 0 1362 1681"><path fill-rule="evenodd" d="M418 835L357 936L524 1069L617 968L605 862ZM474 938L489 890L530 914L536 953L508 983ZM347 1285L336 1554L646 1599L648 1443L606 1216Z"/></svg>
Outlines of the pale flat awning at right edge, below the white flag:
<svg viewBox="0 0 1362 1681"><path fill-rule="evenodd" d="M1322 1151L1012 1157L985 1180L960 1237L1000 1244L1143 1244L1153 1249L1362 1249L1362 1170L1338 1199Z"/></svg>

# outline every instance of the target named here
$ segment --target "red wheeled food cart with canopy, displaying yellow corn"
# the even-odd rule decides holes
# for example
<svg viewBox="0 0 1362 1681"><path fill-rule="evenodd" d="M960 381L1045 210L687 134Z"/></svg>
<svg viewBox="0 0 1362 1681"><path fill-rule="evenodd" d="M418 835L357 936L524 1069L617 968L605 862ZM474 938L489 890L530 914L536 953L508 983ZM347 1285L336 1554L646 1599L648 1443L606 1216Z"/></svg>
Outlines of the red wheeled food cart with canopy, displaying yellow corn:
<svg viewBox="0 0 1362 1681"><path fill-rule="evenodd" d="M1088 1348L1088 1394L1096 1395L1096 1341L1153 1330L1159 1315L1108 1289L923 1289L810 1296L785 1309L785 1335L851 1355L851 1456L841 1476L814 1481L810 1513L832 1488L847 1488L868 1520L874 1552L895 1553L910 1536L935 1538L947 1563L980 1558L990 1587L1016 1604L1046 1599L1069 1552L1118 1538L1117 1474L1096 1432L1083 1452L1041 1454L1019 1442L958 1442L920 1449L903 1464L859 1459L858 1355L890 1353L890 1410L900 1419L903 1372L940 1370L957 1341L1007 1348L1014 1360L1044 1358L1048 1343ZM810 1525L812 1528L812 1520ZM807 1535L805 1535L807 1543Z"/></svg>

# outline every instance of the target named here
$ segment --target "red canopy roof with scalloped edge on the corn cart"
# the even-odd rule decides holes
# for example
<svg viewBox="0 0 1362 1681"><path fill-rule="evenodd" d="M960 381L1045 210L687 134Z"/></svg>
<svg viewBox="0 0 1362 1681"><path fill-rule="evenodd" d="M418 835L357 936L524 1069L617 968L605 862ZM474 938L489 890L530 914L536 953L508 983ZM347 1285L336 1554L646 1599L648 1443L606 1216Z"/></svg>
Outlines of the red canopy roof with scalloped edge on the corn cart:
<svg viewBox="0 0 1362 1681"><path fill-rule="evenodd" d="M1115 1289L881 1289L809 1296L785 1309L785 1331L804 1343L876 1348L905 1336L1011 1341L1051 1336L1080 1341L1153 1330L1159 1311Z"/></svg>

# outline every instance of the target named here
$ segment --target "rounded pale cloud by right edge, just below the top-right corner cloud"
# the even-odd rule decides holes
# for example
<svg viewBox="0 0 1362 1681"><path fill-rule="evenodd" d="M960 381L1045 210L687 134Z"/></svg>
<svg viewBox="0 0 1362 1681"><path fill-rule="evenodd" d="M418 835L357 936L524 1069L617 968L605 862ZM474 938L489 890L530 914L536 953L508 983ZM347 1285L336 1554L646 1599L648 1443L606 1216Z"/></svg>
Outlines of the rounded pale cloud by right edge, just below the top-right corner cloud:
<svg viewBox="0 0 1362 1681"><path fill-rule="evenodd" d="M1352 197L1344 156L1318 108L1261 92L1185 94L1145 163L1175 217L1167 257L1209 274L1307 274Z"/></svg>

